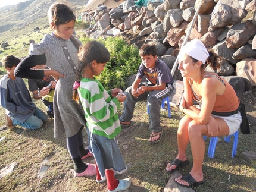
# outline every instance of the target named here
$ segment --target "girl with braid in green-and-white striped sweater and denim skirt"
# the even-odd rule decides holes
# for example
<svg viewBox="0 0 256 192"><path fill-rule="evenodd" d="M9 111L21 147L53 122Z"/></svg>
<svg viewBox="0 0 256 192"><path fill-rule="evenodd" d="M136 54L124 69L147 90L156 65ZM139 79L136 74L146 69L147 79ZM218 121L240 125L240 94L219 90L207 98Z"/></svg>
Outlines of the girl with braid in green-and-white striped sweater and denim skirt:
<svg viewBox="0 0 256 192"><path fill-rule="evenodd" d="M110 192L123 191L130 187L129 178L116 180L114 173L126 171L123 156L115 137L121 132L117 110L125 95L118 94L121 89L105 90L94 78L101 74L110 59L110 53L99 42L86 43L78 55L79 67L74 83L73 99L82 103L89 129L90 146L96 163L96 181L107 180Z"/></svg>

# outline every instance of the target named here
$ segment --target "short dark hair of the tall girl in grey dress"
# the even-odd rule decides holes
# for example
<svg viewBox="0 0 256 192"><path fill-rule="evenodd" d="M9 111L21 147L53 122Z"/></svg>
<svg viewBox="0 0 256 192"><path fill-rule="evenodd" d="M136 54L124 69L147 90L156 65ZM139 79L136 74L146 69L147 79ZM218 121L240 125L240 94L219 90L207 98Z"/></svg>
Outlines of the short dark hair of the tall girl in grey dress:
<svg viewBox="0 0 256 192"><path fill-rule="evenodd" d="M48 10L48 19L50 26L51 23L59 26L60 24L65 24L73 20L76 21L76 15L68 5L56 2Z"/></svg>

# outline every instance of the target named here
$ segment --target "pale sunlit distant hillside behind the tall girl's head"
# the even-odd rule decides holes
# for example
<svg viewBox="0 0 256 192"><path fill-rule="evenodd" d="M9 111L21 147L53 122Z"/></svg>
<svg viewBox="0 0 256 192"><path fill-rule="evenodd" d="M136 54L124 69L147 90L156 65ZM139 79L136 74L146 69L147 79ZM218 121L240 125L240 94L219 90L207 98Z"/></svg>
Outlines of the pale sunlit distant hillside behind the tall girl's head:
<svg viewBox="0 0 256 192"><path fill-rule="evenodd" d="M27 0L17 5L0 8L0 43L15 36L30 33L35 27L48 25L47 11L54 0ZM76 12L86 5L87 0L68 0Z"/></svg>

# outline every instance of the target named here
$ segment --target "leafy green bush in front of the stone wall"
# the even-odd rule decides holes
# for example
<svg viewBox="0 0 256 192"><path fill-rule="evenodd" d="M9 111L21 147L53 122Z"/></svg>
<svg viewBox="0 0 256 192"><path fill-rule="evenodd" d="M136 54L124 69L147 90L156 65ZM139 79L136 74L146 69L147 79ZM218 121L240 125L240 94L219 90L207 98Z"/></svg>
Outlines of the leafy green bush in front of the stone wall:
<svg viewBox="0 0 256 192"><path fill-rule="evenodd" d="M92 39L82 37L80 39L83 44ZM114 87L126 89L126 78L136 74L141 64L139 49L134 45L127 45L122 37L99 38L101 42L110 52L110 61L105 66L101 75L96 77L106 90Z"/></svg>

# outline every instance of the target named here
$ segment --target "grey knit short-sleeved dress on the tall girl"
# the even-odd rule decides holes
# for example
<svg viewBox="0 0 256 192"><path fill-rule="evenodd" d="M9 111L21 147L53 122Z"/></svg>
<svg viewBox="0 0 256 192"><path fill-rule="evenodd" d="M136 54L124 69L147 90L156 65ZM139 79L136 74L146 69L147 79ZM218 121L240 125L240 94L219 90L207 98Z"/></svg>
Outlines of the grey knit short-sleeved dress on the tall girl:
<svg viewBox="0 0 256 192"><path fill-rule="evenodd" d="M81 42L79 42L82 44ZM46 34L40 43L32 43L30 55L46 56L46 65L66 78L59 78L54 93L54 137L60 138L63 133L72 137L85 125L85 114L82 105L72 99L73 84L76 75L70 63L78 65L77 49L70 39L58 39L52 34Z"/></svg>

